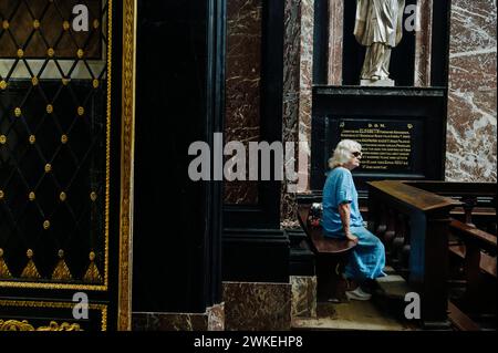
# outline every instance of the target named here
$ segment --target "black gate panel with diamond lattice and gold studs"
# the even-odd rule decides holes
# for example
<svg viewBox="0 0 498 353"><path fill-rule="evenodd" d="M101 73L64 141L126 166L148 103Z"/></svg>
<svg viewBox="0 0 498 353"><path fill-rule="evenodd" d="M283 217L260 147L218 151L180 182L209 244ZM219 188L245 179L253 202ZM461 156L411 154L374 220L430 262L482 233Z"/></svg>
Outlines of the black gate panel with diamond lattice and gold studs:
<svg viewBox="0 0 498 353"><path fill-rule="evenodd" d="M0 1L0 284L103 271L106 18L106 0Z"/></svg>

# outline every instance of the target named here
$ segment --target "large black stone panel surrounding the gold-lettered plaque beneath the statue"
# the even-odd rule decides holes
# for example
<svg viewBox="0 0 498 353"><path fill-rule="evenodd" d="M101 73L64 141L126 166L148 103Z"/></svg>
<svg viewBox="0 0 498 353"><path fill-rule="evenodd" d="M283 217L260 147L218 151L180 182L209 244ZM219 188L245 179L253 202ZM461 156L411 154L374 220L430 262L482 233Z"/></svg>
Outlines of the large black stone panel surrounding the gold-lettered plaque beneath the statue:
<svg viewBox="0 0 498 353"><path fill-rule="evenodd" d="M446 107L443 89L314 86L311 189L323 189L328 160L344 138L362 145L353 170L360 194L372 180L444 179Z"/></svg>

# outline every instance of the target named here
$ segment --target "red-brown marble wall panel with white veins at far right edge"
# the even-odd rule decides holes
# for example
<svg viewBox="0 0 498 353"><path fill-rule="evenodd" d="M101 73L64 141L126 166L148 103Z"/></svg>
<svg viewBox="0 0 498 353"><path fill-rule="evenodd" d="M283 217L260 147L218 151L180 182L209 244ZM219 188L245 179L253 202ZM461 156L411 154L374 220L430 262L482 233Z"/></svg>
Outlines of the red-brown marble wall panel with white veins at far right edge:
<svg viewBox="0 0 498 353"><path fill-rule="evenodd" d="M497 6L453 0L446 179L496 181Z"/></svg>

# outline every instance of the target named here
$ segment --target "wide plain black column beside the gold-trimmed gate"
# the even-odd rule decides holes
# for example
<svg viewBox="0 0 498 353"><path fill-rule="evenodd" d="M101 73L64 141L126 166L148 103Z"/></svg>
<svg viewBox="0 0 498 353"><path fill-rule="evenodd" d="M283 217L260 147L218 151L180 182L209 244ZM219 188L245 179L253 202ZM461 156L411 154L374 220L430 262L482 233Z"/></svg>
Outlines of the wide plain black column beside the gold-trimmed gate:
<svg viewBox="0 0 498 353"><path fill-rule="evenodd" d="M220 187L190 180L188 147L221 129L221 4L138 2L133 311L220 299Z"/></svg>

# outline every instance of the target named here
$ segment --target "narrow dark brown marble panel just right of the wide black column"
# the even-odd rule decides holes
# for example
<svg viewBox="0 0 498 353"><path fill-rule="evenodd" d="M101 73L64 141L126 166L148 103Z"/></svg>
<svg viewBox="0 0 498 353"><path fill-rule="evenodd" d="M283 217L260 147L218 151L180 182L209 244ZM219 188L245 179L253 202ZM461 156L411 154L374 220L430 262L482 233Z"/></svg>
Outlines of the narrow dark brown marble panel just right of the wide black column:
<svg viewBox="0 0 498 353"><path fill-rule="evenodd" d="M239 141L246 148L249 142L259 141L260 133L261 15L261 0L227 2L225 142ZM226 204L255 205L258 185L226 181L224 199Z"/></svg>

